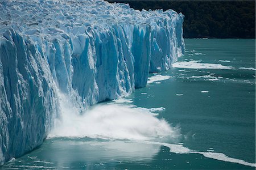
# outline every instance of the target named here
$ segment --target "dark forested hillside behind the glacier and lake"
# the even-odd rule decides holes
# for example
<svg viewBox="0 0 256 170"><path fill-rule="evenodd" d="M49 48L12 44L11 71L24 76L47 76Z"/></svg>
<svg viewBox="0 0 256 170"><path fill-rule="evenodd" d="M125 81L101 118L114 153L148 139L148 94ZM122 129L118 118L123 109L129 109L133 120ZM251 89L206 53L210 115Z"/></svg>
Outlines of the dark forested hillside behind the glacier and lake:
<svg viewBox="0 0 256 170"><path fill-rule="evenodd" d="M255 39L255 1L109 1L135 9L173 9L185 15L185 38Z"/></svg>

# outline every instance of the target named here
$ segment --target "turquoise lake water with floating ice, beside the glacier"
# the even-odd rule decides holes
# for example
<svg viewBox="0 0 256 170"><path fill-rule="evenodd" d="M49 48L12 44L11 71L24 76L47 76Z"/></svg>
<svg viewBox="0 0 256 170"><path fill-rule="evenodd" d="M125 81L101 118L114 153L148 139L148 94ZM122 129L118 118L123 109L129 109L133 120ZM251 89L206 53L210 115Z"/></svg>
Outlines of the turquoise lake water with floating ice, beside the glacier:
<svg viewBox="0 0 256 170"><path fill-rule="evenodd" d="M121 107L158 108L152 112L175 131L168 139L134 139L133 134L141 127L126 113L123 114L131 125L121 133L127 139L115 138L119 134L103 125L106 121L125 124L112 112L131 110L108 107L106 112L111 114L102 121L104 139L98 135L53 135L36 150L1 168L255 169L255 40L187 39L185 44L185 56L171 70L150 74L152 83L147 87L137 89L123 101L94 106L114 103ZM149 127L149 133L154 133L150 126L163 125L144 114L138 119L146 120L143 125ZM74 122L76 125L84 128ZM141 134L145 133L143 130L139 129ZM95 133L101 134L98 130Z"/></svg>

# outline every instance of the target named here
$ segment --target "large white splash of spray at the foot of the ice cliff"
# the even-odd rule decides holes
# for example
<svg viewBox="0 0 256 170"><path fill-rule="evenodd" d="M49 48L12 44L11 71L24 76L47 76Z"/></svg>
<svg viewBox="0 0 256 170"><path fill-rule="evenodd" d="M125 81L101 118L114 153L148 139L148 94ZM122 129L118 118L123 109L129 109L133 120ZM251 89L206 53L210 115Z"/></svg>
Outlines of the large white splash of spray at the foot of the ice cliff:
<svg viewBox="0 0 256 170"><path fill-rule="evenodd" d="M140 109L134 105L98 104L80 115L67 101L60 101L61 119L48 137L90 137L151 140L179 137L167 121L156 117L165 108Z"/></svg>

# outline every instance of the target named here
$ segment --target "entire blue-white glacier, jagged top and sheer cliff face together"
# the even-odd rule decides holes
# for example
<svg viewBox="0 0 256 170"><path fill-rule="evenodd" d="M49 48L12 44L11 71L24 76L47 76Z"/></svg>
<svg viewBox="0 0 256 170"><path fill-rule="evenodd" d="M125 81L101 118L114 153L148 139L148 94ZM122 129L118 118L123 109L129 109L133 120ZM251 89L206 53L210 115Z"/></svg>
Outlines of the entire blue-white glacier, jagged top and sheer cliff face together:
<svg viewBox="0 0 256 170"><path fill-rule="evenodd" d="M82 111L170 69L183 18L102 0L0 0L0 165L43 142L58 94Z"/></svg>

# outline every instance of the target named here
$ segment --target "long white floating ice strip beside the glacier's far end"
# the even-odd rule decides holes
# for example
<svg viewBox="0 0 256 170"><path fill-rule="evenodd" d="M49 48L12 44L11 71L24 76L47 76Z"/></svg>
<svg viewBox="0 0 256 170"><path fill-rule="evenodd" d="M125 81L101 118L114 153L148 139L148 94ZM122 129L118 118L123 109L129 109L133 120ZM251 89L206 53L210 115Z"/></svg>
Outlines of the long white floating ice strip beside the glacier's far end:
<svg viewBox="0 0 256 170"><path fill-rule="evenodd" d="M200 63L200 61L180 61L172 64L174 68L180 69L234 69L232 66L223 66L215 63Z"/></svg>

